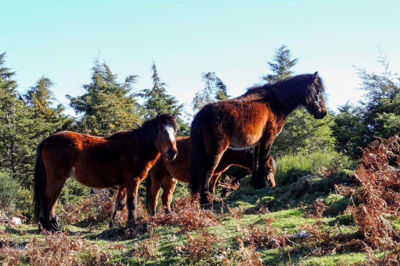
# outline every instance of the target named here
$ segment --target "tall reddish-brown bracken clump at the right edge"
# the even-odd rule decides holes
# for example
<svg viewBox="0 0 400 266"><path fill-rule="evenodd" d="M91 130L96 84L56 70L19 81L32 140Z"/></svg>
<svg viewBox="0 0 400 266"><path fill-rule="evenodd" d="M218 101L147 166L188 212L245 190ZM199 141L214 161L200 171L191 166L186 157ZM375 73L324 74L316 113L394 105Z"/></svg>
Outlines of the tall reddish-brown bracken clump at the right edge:
<svg viewBox="0 0 400 266"><path fill-rule="evenodd" d="M400 215L400 171L389 167L392 158L400 166L399 153L398 136L372 142L364 149L355 171L360 189L336 186L342 195L358 200L358 205L350 204L346 211L352 214L365 236L364 242L372 248L386 250L400 246L398 234L387 219L388 215Z"/></svg>

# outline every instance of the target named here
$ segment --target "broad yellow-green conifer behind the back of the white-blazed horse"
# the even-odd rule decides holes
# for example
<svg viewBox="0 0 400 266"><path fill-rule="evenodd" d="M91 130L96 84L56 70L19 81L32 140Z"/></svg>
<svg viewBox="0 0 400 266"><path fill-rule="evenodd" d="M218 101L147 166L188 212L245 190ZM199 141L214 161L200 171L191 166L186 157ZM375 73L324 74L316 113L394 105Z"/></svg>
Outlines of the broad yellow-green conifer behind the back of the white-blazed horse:
<svg viewBox="0 0 400 266"><path fill-rule="evenodd" d="M111 72L106 63L94 61L92 82L83 85L81 96L72 97L70 106L76 114L83 114L77 129L97 136L107 136L116 131L134 127L140 121L142 108L132 93L138 75L129 75L124 82Z"/></svg>

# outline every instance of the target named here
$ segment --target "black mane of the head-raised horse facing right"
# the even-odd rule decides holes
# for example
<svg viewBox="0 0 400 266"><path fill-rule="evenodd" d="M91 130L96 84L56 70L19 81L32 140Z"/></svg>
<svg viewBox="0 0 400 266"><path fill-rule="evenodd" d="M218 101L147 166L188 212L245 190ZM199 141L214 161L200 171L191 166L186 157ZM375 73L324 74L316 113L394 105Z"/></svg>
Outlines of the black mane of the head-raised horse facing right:
<svg viewBox="0 0 400 266"><path fill-rule="evenodd" d="M323 80L318 77L321 84L322 93L325 91ZM286 107L297 106L305 101L315 99L317 88L313 82L313 74L302 74L286 79L270 82L261 86L253 86L247 89L244 95L259 93L267 96L274 93L279 101Z"/></svg>

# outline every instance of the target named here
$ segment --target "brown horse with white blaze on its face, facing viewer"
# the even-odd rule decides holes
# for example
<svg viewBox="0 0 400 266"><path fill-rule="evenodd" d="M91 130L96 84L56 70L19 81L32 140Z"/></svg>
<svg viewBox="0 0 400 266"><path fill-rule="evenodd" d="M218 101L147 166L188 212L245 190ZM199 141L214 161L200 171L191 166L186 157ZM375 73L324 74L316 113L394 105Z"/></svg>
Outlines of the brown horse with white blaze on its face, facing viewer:
<svg viewBox="0 0 400 266"><path fill-rule="evenodd" d="M176 130L175 116L157 115L137 129L110 137L62 131L44 139L37 149L34 177L34 213L39 228L59 228L55 207L70 176L95 189L126 189L128 222L134 222L139 183L160 153L168 160L176 157Z"/></svg>

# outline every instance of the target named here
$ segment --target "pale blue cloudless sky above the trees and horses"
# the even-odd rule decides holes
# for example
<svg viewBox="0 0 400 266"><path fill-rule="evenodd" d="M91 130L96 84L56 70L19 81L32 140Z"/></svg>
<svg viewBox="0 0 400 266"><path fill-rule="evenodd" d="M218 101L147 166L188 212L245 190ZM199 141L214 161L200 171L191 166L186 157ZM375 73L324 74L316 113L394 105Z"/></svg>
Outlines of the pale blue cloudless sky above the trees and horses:
<svg viewBox="0 0 400 266"><path fill-rule="evenodd" d="M328 105L357 102L352 64L379 71L377 46L400 72L400 1L2 1L0 52L24 91L42 75L57 99L80 95L93 59L121 80L151 86L155 61L168 92L190 102L201 73L216 71L230 95L260 81L266 60L285 43L296 73L318 71ZM67 110L72 114L72 110Z"/></svg>

